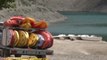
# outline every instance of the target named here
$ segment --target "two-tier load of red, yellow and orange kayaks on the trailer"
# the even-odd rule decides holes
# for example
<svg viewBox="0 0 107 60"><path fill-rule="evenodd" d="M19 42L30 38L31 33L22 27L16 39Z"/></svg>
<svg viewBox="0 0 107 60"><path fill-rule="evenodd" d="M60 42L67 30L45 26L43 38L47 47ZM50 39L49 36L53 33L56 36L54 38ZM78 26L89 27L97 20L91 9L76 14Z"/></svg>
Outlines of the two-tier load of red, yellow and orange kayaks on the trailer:
<svg viewBox="0 0 107 60"><path fill-rule="evenodd" d="M47 49L53 45L52 34L46 30L48 24L45 20L36 21L31 17L14 16L6 20L4 26L9 27L8 30L3 29L2 40L6 40L5 46ZM12 29L12 27L24 28L24 30ZM29 31L31 28L33 31Z"/></svg>

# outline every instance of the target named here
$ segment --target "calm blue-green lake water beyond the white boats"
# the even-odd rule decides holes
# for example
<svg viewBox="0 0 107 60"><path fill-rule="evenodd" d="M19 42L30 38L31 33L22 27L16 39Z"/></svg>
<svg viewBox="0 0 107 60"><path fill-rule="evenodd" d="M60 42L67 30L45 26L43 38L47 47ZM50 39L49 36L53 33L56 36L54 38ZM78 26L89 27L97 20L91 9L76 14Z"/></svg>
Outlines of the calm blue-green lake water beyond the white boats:
<svg viewBox="0 0 107 60"><path fill-rule="evenodd" d="M65 21L51 24L53 34L89 34L103 36L107 40L107 14L98 12L60 12L68 17Z"/></svg>

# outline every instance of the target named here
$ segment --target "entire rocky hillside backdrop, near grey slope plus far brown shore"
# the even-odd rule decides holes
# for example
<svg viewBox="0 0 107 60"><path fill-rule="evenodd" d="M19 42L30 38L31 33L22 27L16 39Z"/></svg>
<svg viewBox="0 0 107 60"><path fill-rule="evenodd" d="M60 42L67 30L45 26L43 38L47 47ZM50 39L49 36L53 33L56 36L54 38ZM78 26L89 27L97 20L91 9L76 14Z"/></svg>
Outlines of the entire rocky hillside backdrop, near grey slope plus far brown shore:
<svg viewBox="0 0 107 60"><path fill-rule="evenodd" d="M0 19L23 15L49 22L66 19L57 11L100 11L107 12L107 0L15 0L16 8L0 11Z"/></svg>

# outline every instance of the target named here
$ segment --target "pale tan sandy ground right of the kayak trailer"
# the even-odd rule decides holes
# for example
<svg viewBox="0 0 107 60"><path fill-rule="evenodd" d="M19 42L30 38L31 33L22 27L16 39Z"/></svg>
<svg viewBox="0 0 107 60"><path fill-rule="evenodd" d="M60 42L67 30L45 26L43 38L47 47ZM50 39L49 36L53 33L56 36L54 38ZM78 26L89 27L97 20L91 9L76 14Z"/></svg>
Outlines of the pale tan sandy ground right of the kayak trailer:
<svg viewBox="0 0 107 60"><path fill-rule="evenodd" d="M54 40L49 60L107 60L107 42Z"/></svg>

